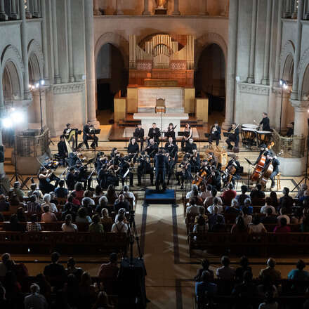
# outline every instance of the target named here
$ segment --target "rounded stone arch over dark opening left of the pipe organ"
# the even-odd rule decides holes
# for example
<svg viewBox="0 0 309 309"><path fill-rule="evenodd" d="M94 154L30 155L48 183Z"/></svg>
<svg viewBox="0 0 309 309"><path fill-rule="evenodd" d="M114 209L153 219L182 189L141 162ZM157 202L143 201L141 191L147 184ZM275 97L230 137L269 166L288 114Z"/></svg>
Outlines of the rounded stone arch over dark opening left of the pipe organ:
<svg viewBox="0 0 309 309"><path fill-rule="evenodd" d="M124 37L122 37L120 34L114 32L106 32L99 37L98 41L96 42L94 51L95 60L97 61L98 59L100 48L107 43L110 43L119 48L119 51L124 58L124 66L129 68L129 41L124 39Z"/></svg>

